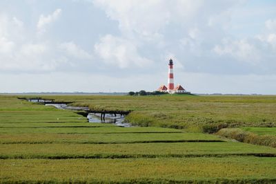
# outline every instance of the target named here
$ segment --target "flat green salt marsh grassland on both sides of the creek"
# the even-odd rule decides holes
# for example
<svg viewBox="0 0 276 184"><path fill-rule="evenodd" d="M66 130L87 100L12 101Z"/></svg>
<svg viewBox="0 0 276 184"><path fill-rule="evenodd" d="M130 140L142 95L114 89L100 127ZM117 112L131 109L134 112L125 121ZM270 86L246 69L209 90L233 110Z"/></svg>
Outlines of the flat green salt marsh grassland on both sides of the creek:
<svg viewBox="0 0 276 184"><path fill-rule="evenodd" d="M275 125L273 96L48 98L133 110L128 120L146 127L90 123L75 111L0 95L0 183L276 182L275 148L202 133L226 123L266 134Z"/></svg>

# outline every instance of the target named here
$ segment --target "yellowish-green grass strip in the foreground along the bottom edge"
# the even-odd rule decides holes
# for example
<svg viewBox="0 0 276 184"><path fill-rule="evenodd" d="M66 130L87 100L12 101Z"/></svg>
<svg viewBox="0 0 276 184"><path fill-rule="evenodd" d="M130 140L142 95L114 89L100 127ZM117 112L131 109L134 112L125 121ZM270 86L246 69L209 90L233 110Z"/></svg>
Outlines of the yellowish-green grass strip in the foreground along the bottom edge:
<svg viewBox="0 0 276 184"><path fill-rule="evenodd" d="M3 182L275 181L275 158L0 160ZM249 169L250 168L250 169Z"/></svg>

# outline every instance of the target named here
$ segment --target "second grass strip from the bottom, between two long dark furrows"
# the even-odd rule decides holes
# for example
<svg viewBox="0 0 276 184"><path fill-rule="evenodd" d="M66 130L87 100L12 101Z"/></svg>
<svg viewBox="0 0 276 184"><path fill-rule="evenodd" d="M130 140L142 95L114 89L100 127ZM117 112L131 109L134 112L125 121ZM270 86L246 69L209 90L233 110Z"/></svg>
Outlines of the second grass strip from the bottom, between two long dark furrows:
<svg viewBox="0 0 276 184"><path fill-rule="evenodd" d="M0 158L159 158L274 156L276 149L241 142L172 142L137 144L9 144L1 145Z"/></svg>

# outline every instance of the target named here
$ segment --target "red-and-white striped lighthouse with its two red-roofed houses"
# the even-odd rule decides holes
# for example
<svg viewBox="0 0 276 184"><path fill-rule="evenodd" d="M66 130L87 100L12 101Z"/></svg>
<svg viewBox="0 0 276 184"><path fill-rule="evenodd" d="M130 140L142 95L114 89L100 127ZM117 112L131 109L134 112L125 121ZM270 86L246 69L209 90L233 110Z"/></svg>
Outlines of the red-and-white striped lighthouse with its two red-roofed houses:
<svg viewBox="0 0 276 184"><path fill-rule="evenodd" d="M168 87L166 87L164 84L157 89L157 91L161 92L168 92L170 94L173 93L190 93L187 92L180 84L178 84L175 87L175 84L173 82L173 62L172 59L170 59L168 63Z"/></svg>

